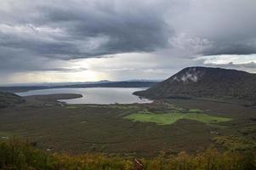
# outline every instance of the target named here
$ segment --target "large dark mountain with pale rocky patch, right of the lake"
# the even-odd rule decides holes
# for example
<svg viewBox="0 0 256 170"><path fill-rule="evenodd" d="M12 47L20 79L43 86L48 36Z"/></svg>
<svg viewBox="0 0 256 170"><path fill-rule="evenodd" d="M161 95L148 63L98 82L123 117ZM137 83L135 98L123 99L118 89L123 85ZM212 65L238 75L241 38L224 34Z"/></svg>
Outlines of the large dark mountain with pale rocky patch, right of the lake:
<svg viewBox="0 0 256 170"><path fill-rule="evenodd" d="M256 75L210 67L188 67L134 94L151 99L201 98L256 104Z"/></svg>

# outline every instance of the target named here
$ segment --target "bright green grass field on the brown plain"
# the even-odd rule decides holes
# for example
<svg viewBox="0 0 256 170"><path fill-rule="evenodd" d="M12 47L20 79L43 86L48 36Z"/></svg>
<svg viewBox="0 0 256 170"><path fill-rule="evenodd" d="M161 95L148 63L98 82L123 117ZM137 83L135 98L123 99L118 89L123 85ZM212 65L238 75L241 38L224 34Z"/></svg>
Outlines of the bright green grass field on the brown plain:
<svg viewBox="0 0 256 170"><path fill-rule="evenodd" d="M226 122L232 119L220 116L209 116L202 113L168 113L168 114L154 114L154 113L135 113L124 118L132 120L134 122L155 122L158 125L170 125L174 122L177 122L181 119L189 119L197 122L203 123L219 123L219 122Z"/></svg>

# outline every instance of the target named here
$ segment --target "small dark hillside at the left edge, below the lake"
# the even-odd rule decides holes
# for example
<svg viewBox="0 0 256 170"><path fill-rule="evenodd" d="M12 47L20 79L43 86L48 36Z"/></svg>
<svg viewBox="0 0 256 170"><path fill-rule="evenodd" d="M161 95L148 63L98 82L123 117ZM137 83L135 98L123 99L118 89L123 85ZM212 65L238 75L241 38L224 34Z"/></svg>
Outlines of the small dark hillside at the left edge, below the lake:
<svg viewBox="0 0 256 170"><path fill-rule="evenodd" d="M0 92L0 109L20 104L25 100L16 94Z"/></svg>

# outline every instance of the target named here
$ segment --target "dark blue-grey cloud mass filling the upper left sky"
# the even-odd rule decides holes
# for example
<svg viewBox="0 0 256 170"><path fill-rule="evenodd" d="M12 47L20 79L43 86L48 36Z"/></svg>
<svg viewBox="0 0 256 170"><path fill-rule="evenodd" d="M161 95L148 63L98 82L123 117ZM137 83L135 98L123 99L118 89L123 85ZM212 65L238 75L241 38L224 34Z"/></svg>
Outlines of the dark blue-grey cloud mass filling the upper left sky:
<svg viewBox="0 0 256 170"><path fill-rule="evenodd" d="M135 5L135 1L4 2L0 7L0 59L4 61L0 71L47 71L45 65L56 64L55 59L165 48L172 31L160 8L167 7ZM43 58L53 60L45 64ZM59 63L54 66L63 71Z"/></svg>

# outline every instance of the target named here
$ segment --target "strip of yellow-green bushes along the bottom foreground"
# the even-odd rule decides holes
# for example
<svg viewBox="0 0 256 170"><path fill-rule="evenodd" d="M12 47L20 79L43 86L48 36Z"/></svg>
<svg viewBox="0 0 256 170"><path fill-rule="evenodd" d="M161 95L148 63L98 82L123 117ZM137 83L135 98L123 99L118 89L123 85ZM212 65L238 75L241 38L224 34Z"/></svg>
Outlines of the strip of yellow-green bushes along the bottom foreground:
<svg viewBox="0 0 256 170"><path fill-rule="evenodd" d="M203 152L189 155L185 151L178 155L164 152L156 157L141 158L145 170L253 170L256 159L252 153L225 152L220 153L213 147ZM37 150L28 142L15 139L0 143L0 169L37 169L37 170L132 170L134 157L123 157L104 154L84 154L71 156L67 154L49 153Z"/></svg>

